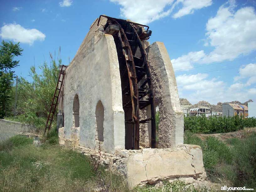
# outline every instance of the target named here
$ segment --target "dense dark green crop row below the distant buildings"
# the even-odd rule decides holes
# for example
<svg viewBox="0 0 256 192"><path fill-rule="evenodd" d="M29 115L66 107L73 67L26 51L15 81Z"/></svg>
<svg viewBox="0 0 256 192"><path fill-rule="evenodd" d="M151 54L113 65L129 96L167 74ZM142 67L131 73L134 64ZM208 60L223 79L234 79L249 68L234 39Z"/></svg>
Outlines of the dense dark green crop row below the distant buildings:
<svg viewBox="0 0 256 192"><path fill-rule="evenodd" d="M225 133L238 131L244 127L255 127L256 118L184 116L184 128L193 133Z"/></svg>

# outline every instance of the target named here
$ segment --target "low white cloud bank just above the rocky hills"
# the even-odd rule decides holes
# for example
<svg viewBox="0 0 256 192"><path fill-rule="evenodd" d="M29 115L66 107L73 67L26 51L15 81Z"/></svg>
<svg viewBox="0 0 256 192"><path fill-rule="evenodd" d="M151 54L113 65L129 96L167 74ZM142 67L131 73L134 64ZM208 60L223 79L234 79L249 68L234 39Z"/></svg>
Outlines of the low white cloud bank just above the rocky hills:
<svg viewBox="0 0 256 192"><path fill-rule="evenodd" d="M217 102L227 102L239 100L241 102L248 99L255 100L256 89L246 88L243 83L234 83L228 86L224 81L216 78L207 79L206 74L196 74L176 77L179 93L181 97L195 104L201 100L211 104Z"/></svg>

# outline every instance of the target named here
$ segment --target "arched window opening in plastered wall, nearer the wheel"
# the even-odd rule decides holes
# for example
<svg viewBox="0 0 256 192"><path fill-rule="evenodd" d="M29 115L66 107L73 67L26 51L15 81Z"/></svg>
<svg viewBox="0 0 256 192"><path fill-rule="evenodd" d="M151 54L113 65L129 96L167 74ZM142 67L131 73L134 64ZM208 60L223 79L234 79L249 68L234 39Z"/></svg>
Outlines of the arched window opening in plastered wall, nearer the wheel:
<svg viewBox="0 0 256 192"><path fill-rule="evenodd" d="M95 140L104 141L104 107L101 101L99 101L96 105L95 110L95 117L96 117L96 133L95 133Z"/></svg>

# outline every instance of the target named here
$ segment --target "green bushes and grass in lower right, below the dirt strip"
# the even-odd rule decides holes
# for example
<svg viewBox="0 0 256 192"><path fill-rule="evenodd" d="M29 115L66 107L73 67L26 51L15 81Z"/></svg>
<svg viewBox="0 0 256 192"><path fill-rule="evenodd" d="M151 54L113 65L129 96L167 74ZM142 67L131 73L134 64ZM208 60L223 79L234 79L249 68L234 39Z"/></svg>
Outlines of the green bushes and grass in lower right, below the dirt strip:
<svg viewBox="0 0 256 192"><path fill-rule="evenodd" d="M214 137L202 141L186 131L184 143L202 148L205 171L212 182L256 188L256 133L230 139L229 147Z"/></svg>

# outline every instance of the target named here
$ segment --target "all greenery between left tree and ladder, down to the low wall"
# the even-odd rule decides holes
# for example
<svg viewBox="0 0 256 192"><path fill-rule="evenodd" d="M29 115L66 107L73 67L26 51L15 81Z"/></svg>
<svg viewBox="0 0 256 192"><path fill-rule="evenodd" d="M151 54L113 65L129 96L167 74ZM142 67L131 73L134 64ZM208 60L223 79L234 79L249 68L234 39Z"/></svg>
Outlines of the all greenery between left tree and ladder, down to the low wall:
<svg viewBox="0 0 256 192"><path fill-rule="evenodd" d="M56 61L52 56L51 59L50 66L44 62L39 67L41 74L36 72L34 66L30 68L32 82L26 81L23 77L19 78L19 98L16 109L18 115L8 116L6 120L27 123L41 130L44 129L59 75ZM61 65L61 59L58 62ZM55 126L56 120L54 119L52 127Z"/></svg>

